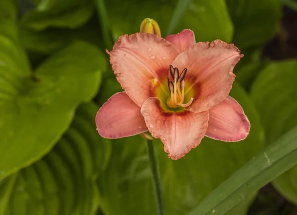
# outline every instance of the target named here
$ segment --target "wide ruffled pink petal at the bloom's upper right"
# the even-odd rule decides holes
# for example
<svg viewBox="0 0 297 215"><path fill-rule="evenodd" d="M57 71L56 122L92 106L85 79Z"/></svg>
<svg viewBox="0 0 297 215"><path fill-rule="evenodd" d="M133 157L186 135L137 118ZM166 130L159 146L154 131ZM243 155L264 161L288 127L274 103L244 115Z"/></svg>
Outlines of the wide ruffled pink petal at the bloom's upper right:
<svg viewBox="0 0 297 215"><path fill-rule="evenodd" d="M220 40L196 43L172 62L180 70L188 68L185 81L195 89L191 112L206 111L223 101L229 94L235 75L233 68L243 55L234 44Z"/></svg>

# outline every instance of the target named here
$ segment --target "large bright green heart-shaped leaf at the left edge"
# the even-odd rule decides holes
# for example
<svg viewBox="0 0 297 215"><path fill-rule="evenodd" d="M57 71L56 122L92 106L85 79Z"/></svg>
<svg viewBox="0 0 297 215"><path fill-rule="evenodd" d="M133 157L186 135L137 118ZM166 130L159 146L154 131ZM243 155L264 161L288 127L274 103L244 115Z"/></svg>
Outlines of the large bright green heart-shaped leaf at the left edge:
<svg viewBox="0 0 297 215"><path fill-rule="evenodd" d="M0 29L6 29L0 31L0 178L49 151L77 105L95 95L106 67L96 47L76 42L32 72L13 26L0 19Z"/></svg>

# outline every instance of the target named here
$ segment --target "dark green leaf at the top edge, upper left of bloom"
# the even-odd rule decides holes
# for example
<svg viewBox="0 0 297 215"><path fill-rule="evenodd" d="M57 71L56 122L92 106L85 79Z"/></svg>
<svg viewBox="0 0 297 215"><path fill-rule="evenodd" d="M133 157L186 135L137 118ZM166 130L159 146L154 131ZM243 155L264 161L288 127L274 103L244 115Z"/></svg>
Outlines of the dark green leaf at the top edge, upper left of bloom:
<svg viewBox="0 0 297 215"><path fill-rule="evenodd" d="M21 25L35 30L48 27L75 28L92 16L92 0L42 0L21 19Z"/></svg>

